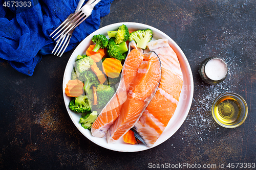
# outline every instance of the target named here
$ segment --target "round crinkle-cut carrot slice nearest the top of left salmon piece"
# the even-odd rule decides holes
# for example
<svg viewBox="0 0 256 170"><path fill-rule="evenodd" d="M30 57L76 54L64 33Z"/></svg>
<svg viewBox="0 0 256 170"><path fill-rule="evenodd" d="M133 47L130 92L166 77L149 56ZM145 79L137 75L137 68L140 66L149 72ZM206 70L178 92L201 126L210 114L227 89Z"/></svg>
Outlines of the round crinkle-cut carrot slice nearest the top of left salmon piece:
<svg viewBox="0 0 256 170"><path fill-rule="evenodd" d="M112 79L117 78L123 68L121 61L115 58L106 58L102 62L102 67L106 76Z"/></svg>

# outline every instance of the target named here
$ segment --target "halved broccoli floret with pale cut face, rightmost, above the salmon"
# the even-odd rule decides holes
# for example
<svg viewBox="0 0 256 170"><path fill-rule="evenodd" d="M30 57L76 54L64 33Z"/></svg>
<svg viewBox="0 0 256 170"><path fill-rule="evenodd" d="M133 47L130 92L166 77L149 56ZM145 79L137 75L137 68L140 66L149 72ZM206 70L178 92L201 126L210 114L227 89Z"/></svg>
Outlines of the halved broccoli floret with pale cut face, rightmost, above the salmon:
<svg viewBox="0 0 256 170"><path fill-rule="evenodd" d="M130 34L129 41L134 40L137 47L145 49L146 44L153 38L153 31L151 29L137 30Z"/></svg>

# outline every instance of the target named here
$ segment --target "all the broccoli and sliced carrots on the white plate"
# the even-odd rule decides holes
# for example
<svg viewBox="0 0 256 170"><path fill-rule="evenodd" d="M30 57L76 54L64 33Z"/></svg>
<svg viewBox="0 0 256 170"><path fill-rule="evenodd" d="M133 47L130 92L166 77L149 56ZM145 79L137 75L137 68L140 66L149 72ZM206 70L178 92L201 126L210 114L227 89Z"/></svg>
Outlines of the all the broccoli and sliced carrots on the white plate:
<svg viewBox="0 0 256 170"><path fill-rule="evenodd" d="M134 40L137 47L145 49L152 40L150 29L129 32L125 25L105 35L94 35L86 55L78 55L71 72L71 80L65 92L72 99L70 110L81 113L79 124L85 129L91 126L100 109L110 101L121 78L121 70L128 53L127 43ZM125 142L136 143L133 132L124 136Z"/></svg>

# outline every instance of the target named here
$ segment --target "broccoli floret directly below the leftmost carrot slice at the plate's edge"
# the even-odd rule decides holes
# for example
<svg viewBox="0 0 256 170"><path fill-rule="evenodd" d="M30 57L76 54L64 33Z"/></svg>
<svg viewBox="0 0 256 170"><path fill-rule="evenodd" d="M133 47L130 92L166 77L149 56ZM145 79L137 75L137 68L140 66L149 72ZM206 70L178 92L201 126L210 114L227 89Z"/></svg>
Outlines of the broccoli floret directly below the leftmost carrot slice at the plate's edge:
<svg viewBox="0 0 256 170"><path fill-rule="evenodd" d="M91 107L86 95L80 95L72 99L69 103L69 108L77 113L91 113Z"/></svg>

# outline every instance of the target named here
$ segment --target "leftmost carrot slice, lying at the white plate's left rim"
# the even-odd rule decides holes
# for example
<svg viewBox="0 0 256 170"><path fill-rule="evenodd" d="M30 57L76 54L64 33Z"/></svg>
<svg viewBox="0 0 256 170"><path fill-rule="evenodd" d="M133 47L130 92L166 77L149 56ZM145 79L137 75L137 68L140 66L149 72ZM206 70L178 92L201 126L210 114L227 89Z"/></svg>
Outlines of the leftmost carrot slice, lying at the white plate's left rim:
<svg viewBox="0 0 256 170"><path fill-rule="evenodd" d="M65 93L70 97L78 97L83 93L83 82L80 80L70 80L65 88Z"/></svg>

